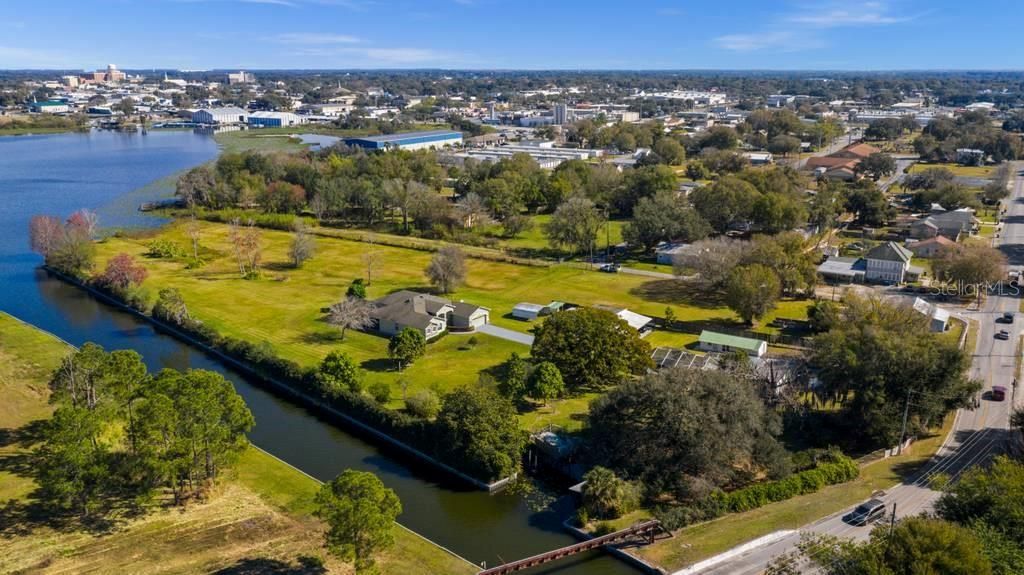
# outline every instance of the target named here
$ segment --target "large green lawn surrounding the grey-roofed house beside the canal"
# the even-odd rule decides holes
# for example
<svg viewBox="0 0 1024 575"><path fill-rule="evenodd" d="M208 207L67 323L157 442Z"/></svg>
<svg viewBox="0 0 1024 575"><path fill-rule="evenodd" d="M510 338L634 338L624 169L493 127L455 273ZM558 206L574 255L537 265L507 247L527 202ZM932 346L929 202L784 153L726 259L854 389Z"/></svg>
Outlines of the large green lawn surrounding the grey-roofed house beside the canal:
<svg viewBox="0 0 1024 575"><path fill-rule="evenodd" d="M315 365L329 351L342 350L361 364L368 385L384 382L392 387L392 407L401 406L402 383L408 392L422 388L450 390L476 382L481 370L498 365L513 351L521 355L529 351L520 344L484 335L476 335L476 345L470 346L470 336L450 334L430 344L426 357L399 373L387 359L386 339L349 330L342 341L340 334L325 322L321 310L342 299L352 279L366 275L361 256L371 250L380 255L381 263L374 272L369 297L378 298L396 290L428 290L423 270L431 258L429 252L318 237L316 255L295 269L287 257L291 234L264 230L263 278L244 280L229 252L227 226L202 225L202 255L208 263L200 269L185 269L178 260L144 258L152 240L148 237L114 237L101 242L98 268L105 259L122 252L138 256L150 270L144 285L151 298L160 288L178 288L196 317L222 334L267 342L279 354L302 365ZM168 226L159 234L182 248L188 246L180 226ZM518 331L528 331L532 324L511 317L515 304L552 300L628 307L653 316L663 315L671 306L683 329L652 335L653 345L691 345L703 327L740 325L721 302L709 300L676 280L599 273L571 265L530 267L473 258L467 264L467 284L451 298L486 306L493 323ZM806 302L782 302L774 315L802 318L806 307ZM764 323L770 320L766 318ZM563 409L557 403L548 409L559 413L549 423L571 424L567 417L574 410ZM543 415L535 413L526 418L551 418Z"/></svg>

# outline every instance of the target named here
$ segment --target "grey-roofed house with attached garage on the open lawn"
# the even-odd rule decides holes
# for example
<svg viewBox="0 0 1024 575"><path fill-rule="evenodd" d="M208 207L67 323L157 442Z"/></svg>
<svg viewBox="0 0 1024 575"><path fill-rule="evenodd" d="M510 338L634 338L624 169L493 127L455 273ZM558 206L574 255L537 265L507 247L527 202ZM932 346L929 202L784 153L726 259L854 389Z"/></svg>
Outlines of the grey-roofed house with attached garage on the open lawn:
<svg viewBox="0 0 1024 575"><path fill-rule="evenodd" d="M449 327L471 330L485 325L490 321L490 310L403 290L373 302L370 317L373 326L385 336L394 336L412 327L429 340Z"/></svg>

